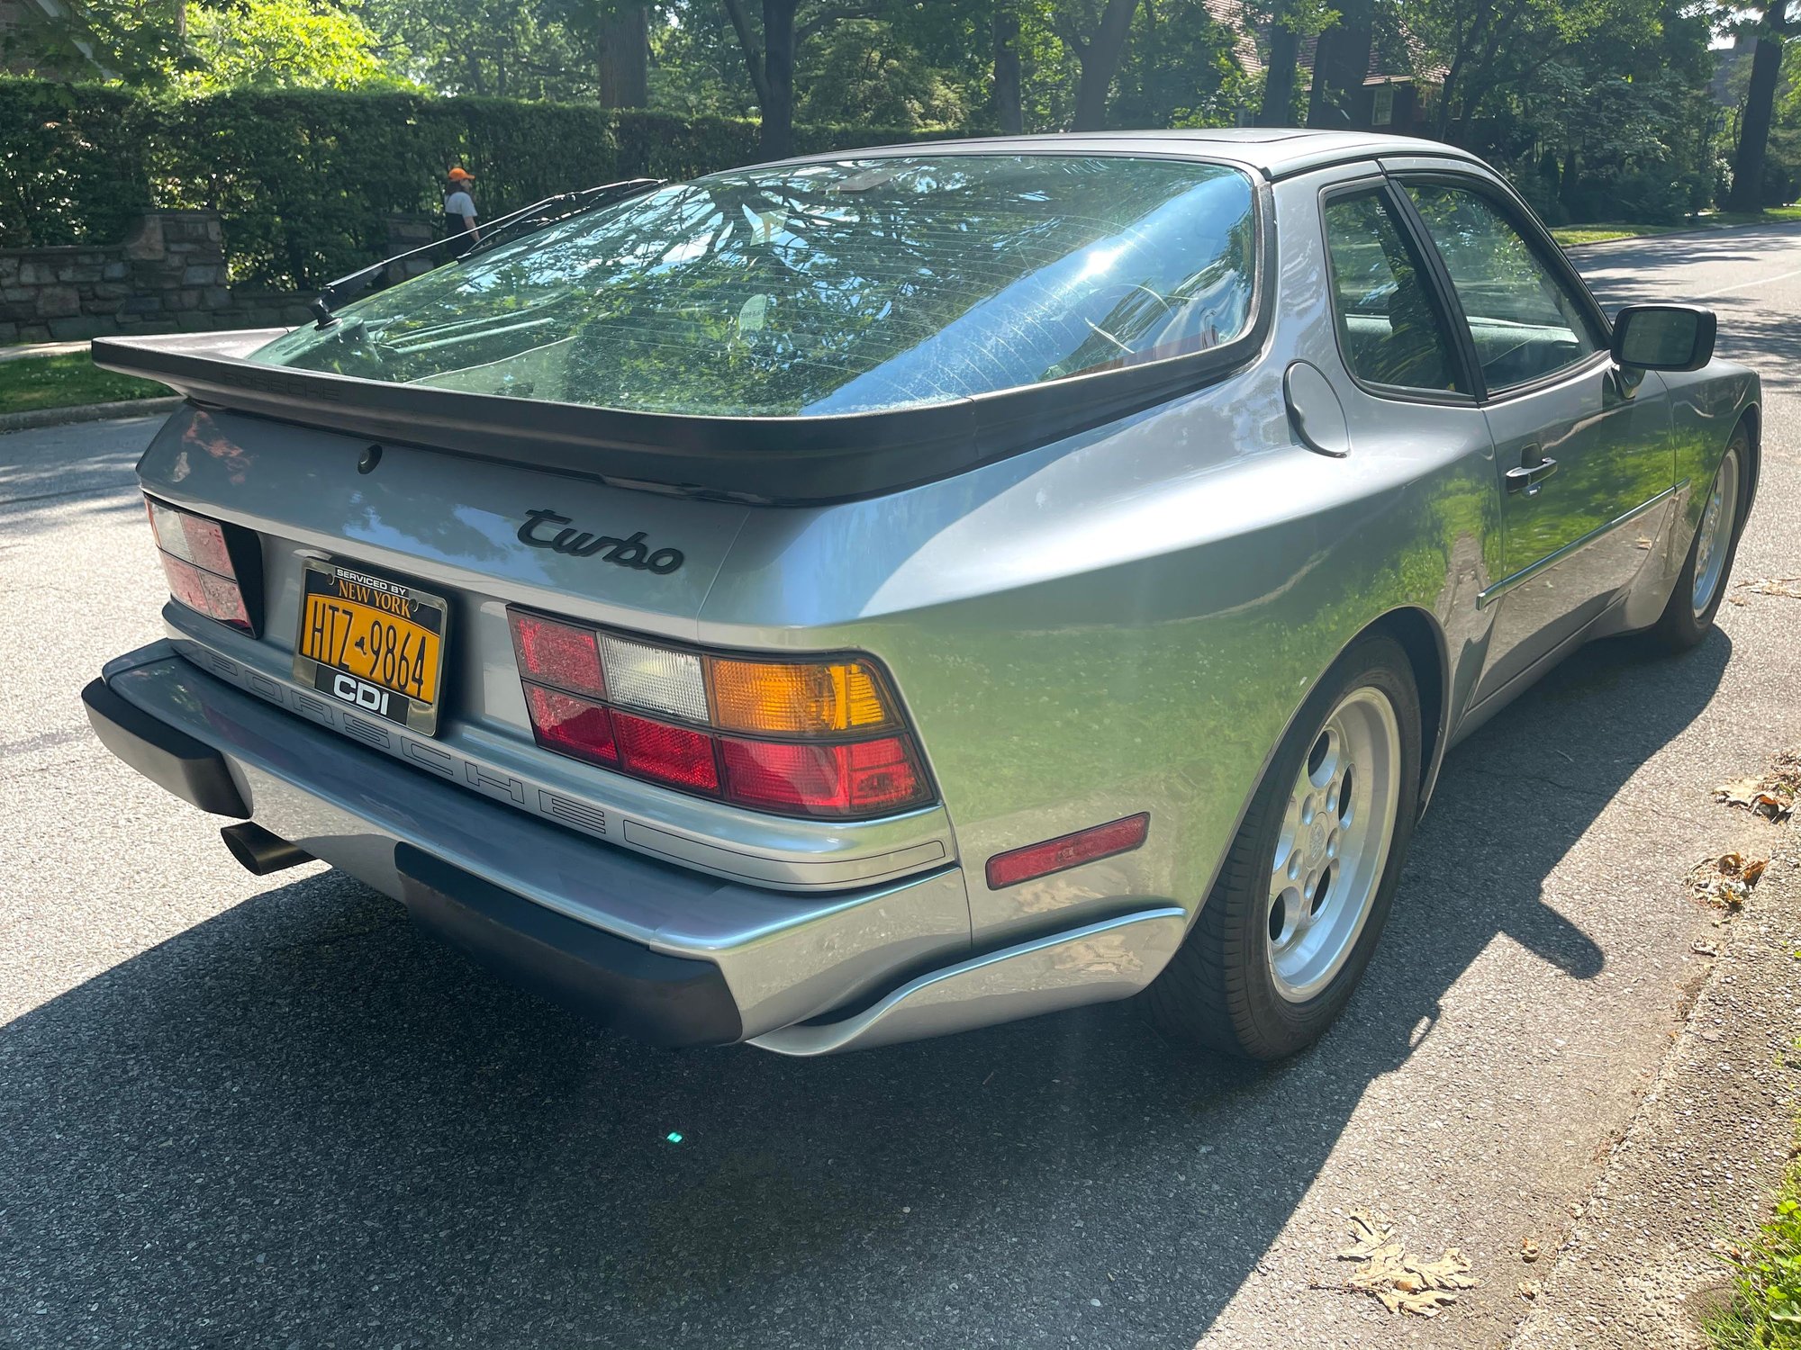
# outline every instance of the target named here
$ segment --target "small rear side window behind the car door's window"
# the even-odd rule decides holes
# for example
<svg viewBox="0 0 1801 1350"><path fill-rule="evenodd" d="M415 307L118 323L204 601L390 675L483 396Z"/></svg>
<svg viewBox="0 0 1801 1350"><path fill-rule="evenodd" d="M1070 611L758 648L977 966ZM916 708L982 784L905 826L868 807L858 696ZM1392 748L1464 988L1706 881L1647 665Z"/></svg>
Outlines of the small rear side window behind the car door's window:
<svg viewBox="0 0 1801 1350"><path fill-rule="evenodd" d="M1457 362L1426 268L1381 189L1326 202L1333 320L1351 374L1399 389L1457 389Z"/></svg>

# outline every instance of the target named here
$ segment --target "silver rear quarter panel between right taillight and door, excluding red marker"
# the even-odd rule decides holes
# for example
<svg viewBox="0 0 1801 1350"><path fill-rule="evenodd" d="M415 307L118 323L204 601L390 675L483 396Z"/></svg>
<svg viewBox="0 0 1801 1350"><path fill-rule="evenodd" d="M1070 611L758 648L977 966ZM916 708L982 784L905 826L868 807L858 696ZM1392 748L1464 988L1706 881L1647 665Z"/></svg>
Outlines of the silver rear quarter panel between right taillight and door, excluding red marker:
<svg viewBox="0 0 1801 1350"><path fill-rule="evenodd" d="M980 941L1127 898L1198 913L1257 779L1344 646L1396 608L1468 689L1498 565L1493 463L1387 414L1297 443L1282 371L1338 367L1317 187L1279 196L1279 320L1230 382L951 481L753 509L701 610L722 646L852 646L893 671L969 869ZM1136 853L989 891L987 857L1151 812Z"/></svg>

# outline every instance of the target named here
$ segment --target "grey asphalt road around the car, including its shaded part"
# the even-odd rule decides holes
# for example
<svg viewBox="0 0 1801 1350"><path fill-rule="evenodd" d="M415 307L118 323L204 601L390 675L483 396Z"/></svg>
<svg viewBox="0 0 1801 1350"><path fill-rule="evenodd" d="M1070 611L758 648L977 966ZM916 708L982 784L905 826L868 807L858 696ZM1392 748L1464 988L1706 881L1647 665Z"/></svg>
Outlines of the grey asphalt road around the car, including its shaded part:
<svg viewBox="0 0 1801 1350"><path fill-rule="evenodd" d="M1738 578L1801 574L1801 230L1583 250L1765 374ZM821 1062L659 1053L387 900L258 880L76 691L157 635L151 423L0 437L0 1345L1479 1346L1706 959L1709 788L1801 743L1801 601L1590 648L1450 760L1349 1015L1275 1069L1131 1006ZM679 1143L674 1141L679 1136ZM1484 1287L1333 1289L1353 1206Z"/></svg>

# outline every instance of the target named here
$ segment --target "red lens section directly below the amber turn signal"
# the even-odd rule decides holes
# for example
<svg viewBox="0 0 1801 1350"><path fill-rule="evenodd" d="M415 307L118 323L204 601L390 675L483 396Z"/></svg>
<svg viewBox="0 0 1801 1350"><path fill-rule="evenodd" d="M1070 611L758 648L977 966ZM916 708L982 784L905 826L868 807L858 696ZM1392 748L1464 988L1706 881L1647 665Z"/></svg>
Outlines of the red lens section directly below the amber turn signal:
<svg viewBox="0 0 1801 1350"><path fill-rule="evenodd" d="M746 806L801 815L875 815L928 797L913 752L899 736L848 745L722 740L726 796Z"/></svg>

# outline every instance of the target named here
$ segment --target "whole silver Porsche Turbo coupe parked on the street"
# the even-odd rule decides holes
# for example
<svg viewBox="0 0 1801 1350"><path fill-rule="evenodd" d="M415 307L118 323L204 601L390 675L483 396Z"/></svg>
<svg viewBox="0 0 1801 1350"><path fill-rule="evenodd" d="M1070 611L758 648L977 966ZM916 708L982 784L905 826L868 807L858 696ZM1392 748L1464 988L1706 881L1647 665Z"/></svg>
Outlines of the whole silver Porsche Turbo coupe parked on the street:
<svg viewBox="0 0 1801 1350"><path fill-rule="evenodd" d="M294 331L106 338L167 635L99 738L665 1044L1144 992L1250 1057L1378 941L1444 751L1713 623L1758 378L1475 158L899 146L632 184Z"/></svg>

